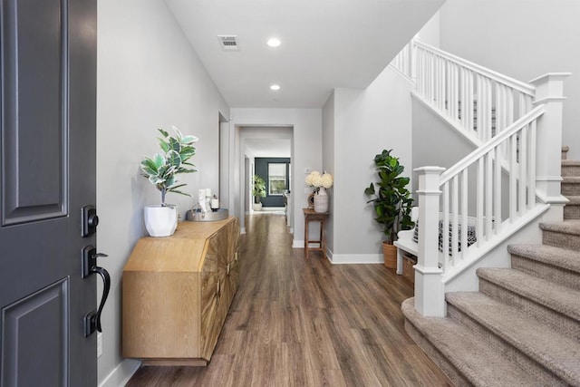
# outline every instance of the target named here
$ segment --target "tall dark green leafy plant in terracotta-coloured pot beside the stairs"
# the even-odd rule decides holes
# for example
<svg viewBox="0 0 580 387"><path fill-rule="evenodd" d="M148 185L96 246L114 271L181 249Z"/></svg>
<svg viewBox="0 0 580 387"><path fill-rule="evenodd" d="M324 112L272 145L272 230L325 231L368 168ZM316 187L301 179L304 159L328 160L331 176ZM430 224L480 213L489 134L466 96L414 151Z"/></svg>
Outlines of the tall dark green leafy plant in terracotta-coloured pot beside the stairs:
<svg viewBox="0 0 580 387"><path fill-rule="evenodd" d="M364 193L372 197L367 203L372 203L377 222L382 225L383 254L385 266L396 267L397 247L392 243L401 230L411 229L411 192L407 189L410 179L402 175L404 167L399 159L391 155L391 150L382 150L374 157L379 181L364 189Z"/></svg>

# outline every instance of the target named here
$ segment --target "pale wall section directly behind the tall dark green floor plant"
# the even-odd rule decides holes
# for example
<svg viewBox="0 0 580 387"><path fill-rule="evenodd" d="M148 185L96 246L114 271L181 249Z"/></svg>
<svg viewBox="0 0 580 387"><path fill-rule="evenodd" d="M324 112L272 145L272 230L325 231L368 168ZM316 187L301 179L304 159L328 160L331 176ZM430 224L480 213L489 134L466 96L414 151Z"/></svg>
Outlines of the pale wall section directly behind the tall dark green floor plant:
<svg viewBox="0 0 580 387"><path fill-rule="evenodd" d="M411 177L410 92L391 67L365 90L334 90L333 263L382 262L382 229L364 189L377 181L373 159L383 149Z"/></svg>

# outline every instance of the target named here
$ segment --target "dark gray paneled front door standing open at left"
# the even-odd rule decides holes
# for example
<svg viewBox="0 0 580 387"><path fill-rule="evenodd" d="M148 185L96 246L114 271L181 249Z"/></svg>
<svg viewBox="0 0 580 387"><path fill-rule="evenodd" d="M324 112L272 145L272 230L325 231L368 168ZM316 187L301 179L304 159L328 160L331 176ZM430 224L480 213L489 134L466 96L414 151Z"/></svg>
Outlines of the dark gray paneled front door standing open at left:
<svg viewBox="0 0 580 387"><path fill-rule="evenodd" d="M0 385L96 385L96 0L0 0Z"/></svg>

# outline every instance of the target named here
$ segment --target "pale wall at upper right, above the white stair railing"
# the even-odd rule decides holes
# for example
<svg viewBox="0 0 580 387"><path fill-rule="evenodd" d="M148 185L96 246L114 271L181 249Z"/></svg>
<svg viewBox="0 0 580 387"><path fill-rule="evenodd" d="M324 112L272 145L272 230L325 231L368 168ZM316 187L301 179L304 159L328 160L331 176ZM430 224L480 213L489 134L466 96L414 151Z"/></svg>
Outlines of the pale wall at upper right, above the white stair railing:
<svg viewBox="0 0 580 387"><path fill-rule="evenodd" d="M580 2L448 0L440 9L441 48L527 82L572 72L565 81L563 145L580 160Z"/></svg>

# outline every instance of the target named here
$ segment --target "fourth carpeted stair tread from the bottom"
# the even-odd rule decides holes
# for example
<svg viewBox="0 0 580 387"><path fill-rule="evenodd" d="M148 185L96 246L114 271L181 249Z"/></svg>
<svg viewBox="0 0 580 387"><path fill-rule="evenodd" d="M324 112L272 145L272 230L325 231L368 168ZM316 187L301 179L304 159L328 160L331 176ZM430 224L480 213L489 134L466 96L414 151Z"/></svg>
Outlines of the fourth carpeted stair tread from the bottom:
<svg viewBox="0 0 580 387"><path fill-rule="evenodd" d="M510 245L507 247L507 252L547 265L565 268L580 276L580 251L548 245Z"/></svg>

